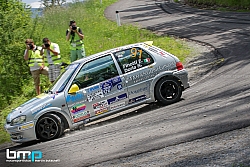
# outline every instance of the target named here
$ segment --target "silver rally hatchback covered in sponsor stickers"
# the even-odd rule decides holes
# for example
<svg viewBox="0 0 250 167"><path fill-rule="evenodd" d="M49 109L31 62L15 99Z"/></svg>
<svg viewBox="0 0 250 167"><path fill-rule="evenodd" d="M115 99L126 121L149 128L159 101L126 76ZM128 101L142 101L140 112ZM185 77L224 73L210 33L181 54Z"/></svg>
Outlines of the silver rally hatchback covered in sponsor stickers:
<svg viewBox="0 0 250 167"><path fill-rule="evenodd" d="M6 118L14 142L51 140L65 129L140 104L178 101L189 87L180 60L152 41L97 53L70 64L47 93Z"/></svg>

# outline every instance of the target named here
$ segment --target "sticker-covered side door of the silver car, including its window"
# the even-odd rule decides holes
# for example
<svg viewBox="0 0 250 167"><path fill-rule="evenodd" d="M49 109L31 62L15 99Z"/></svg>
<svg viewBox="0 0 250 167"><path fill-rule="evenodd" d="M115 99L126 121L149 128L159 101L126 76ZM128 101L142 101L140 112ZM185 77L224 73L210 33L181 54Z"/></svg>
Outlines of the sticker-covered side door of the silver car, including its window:
<svg viewBox="0 0 250 167"><path fill-rule="evenodd" d="M73 122L99 116L128 103L125 79L120 77L111 55L84 64L72 84L79 87L74 100L68 100Z"/></svg>

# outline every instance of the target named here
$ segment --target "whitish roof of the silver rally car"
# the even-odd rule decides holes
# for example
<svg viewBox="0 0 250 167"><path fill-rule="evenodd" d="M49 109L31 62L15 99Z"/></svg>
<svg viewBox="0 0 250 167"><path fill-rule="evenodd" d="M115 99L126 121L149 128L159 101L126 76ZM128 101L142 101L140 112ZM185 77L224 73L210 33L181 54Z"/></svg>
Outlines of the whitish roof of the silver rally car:
<svg viewBox="0 0 250 167"><path fill-rule="evenodd" d="M107 55L107 54L110 54L110 53L114 53L114 52L117 52L117 51L120 51L120 50L125 50L125 49L128 49L128 48L132 48L132 47L140 46L142 48L145 48L146 46L152 46L152 45L153 45L153 41L146 41L146 42L139 42L139 43L124 45L124 46L120 46L120 47L117 47L117 48L112 48L112 49L109 49L109 50L106 50L106 51L103 51L103 52L99 52L99 53L96 53L96 54L92 54L90 56L87 56L87 57L84 57L82 59L76 60L76 61L72 62L72 64L84 63L86 61L90 61L90 60L96 59L98 57L102 57L103 55Z"/></svg>

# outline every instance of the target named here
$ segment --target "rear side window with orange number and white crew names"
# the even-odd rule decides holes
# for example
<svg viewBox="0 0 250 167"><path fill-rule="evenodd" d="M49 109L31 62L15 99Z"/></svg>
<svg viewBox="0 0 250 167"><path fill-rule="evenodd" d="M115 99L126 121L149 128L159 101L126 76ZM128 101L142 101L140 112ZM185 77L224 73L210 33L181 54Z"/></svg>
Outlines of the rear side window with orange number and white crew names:
<svg viewBox="0 0 250 167"><path fill-rule="evenodd" d="M154 63L153 58L146 51L138 47L119 51L114 55L123 73L128 73Z"/></svg>

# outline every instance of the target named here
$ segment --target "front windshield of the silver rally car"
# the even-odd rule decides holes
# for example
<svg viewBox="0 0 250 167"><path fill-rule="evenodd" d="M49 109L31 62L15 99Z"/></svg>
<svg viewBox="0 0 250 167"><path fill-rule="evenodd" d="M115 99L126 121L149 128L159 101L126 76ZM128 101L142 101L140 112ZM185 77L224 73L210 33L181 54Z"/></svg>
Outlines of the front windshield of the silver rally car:
<svg viewBox="0 0 250 167"><path fill-rule="evenodd" d="M79 65L80 64L78 63L78 64L70 64L69 66L67 66L65 71L50 86L50 88L48 89L48 92L52 92L52 93L62 92Z"/></svg>

